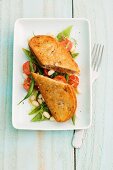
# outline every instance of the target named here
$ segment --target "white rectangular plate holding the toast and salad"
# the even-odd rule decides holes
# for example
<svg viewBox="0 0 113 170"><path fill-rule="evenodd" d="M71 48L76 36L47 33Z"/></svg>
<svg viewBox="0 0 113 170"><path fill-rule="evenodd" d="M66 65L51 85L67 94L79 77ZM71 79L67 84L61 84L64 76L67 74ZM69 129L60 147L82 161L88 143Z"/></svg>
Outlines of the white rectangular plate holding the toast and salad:
<svg viewBox="0 0 113 170"><path fill-rule="evenodd" d="M22 48L28 48L30 37L39 34L57 35L66 27L73 25L71 37L77 40L79 56L80 94L77 96L78 106L76 123L69 120L65 123L43 121L31 122L28 115L31 106L26 100L17 105L26 95L22 87L22 65L27 60ZM90 68L90 26L86 19L18 19L14 28L14 54L13 54L13 98L12 98L12 123L17 129L28 130L72 130L86 129L91 124L91 68Z"/></svg>

